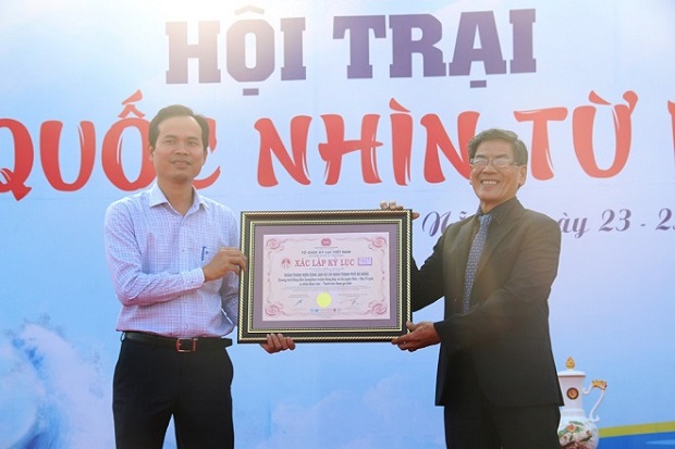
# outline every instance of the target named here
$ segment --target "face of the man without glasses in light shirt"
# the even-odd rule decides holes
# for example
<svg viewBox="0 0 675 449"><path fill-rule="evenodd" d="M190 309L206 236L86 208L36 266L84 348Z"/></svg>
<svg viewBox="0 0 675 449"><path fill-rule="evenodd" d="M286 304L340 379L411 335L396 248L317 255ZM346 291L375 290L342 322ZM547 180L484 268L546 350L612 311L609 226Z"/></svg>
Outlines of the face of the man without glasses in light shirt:
<svg viewBox="0 0 675 449"><path fill-rule="evenodd" d="M201 127L187 115L162 121L155 146L149 147L160 184L189 184L206 162L206 149L201 141Z"/></svg>

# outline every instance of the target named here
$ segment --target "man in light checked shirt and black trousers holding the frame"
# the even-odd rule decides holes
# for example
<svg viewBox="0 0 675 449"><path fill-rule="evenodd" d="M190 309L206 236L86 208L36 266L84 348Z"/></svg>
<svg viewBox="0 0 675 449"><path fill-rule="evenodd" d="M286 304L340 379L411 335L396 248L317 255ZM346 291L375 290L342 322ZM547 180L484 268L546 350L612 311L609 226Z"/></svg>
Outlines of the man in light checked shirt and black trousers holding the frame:
<svg viewBox="0 0 675 449"><path fill-rule="evenodd" d="M246 255L232 211L193 182L207 158L207 120L184 105L149 126L157 183L106 213L108 266L122 303L113 379L118 448L161 448L171 416L179 448L232 448L233 367L224 338L237 322ZM269 335L269 352L294 349Z"/></svg>

